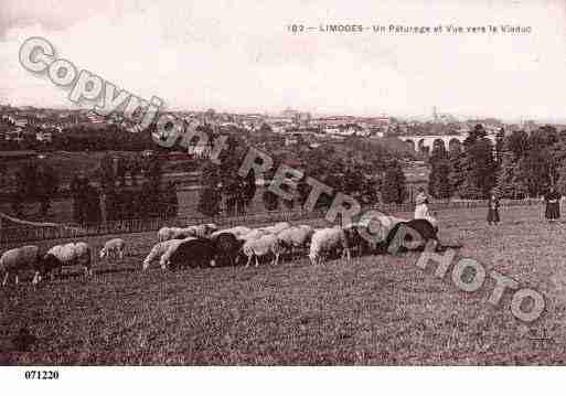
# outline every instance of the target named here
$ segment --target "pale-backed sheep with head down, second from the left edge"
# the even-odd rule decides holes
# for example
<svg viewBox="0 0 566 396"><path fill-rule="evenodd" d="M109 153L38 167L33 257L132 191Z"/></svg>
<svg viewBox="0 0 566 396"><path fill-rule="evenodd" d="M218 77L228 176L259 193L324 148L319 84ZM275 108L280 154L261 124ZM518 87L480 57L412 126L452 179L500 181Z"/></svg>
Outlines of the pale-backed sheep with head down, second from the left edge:
<svg viewBox="0 0 566 396"><path fill-rule="evenodd" d="M86 242L53 246L40 260L34 282L39 282L41 277L53 270L61 271L63 267L76 265L85 268L85 275L93 275L90 268L90 247Z"/></svg>

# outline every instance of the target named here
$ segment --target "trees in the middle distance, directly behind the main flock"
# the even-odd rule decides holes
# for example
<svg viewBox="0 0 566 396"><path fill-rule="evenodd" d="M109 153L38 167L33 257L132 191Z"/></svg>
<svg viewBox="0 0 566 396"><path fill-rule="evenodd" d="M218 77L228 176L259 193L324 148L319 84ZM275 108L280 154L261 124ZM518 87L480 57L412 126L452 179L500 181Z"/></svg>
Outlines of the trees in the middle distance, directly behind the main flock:
<svg viewBox="0 0 566 396"><path fill-rule="evenodd" d="M261 149L265 150L265 147ZM261 203L267 211L301 207L311 190L306 181L308 176L333 189L332 195L322 194L319 197L317 208L330 207L338 192L352 195L361 204L402 203L407 196L402 162L388 150L380 146L370 148L362 139L352 138L344 145L316 148L303 145L293 148L292 152L280 147L279 150L268 148L274 149L270 152L265 150L274 160L274 165L263 175L256 175L250 170L242 176L238 170L248 146L243 139L229 136L220 163L206 161L202 167L199 211L209 216L246 213L256 195L256 176L264 180ZM281 199L268 190L280 164L305 174L298 182L293 200Z"/></svg>

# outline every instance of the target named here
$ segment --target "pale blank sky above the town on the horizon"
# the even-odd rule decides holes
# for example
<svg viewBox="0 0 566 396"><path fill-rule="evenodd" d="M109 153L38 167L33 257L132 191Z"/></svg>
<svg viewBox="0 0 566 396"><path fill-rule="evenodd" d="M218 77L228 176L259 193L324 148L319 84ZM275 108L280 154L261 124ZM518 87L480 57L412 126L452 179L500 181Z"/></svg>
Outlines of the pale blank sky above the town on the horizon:
<svg viewBox="0 0 566 396"><path fill-rule="evenodd" d="M531 34L293 35L329 23L532 26ZM566 1L1 0L0 103L72 107L18 62L30 36L172 109L566 119Z"/></svg>

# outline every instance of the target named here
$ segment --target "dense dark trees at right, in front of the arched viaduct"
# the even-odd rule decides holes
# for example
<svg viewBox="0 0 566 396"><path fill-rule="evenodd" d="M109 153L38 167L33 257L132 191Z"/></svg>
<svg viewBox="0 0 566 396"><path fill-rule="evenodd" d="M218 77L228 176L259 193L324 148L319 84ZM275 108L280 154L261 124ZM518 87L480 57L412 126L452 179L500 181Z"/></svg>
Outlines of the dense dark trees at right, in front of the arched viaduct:
<svg viewBox="0 0 566 396"><path fill-rule="evenodd" d="M566 193L566 131L553 126L527 133L505 133L493 145L481 125L463 145L435 145L428 158L429 193L437 199L524 199L545 194L551 186Z"/></svg>

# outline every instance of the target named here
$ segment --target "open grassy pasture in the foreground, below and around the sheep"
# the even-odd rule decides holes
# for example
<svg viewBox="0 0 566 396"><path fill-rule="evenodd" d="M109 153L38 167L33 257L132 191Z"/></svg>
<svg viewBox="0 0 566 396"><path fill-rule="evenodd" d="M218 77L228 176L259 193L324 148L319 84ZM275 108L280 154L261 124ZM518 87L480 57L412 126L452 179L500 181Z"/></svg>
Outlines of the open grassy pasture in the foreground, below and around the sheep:
<svg viewBox="0 0 566 396"><path fill-rule="evenodd" d="M546 224L541 213L503 208L491 228L484 210L438 213L441 239L463 244L459 256L545 295L546 312L528 325L511 314L510 295L487 302L492 280L466 293L434 266L418 269L417 253L142 274L154 235L136 234L124 263L98 265L90 280L70 271L1 289L1 356L43 365L565 364L566 223ZM22 327L34 342L6 353Z"/></svg>

